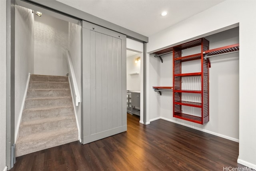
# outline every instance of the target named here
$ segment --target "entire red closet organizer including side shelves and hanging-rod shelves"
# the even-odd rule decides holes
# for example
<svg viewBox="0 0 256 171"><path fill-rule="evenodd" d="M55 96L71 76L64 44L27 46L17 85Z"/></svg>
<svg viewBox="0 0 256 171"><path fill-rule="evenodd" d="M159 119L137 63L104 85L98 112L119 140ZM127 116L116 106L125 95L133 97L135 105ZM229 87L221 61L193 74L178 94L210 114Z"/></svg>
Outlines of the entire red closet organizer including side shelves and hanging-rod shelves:
<svg viewBox="0 0 256 171"><path fill-rule="evenodd" d="M201 52L198 54L192 54L189 56L182 56L182 50L193 48L195 46L201 46ZM173 56L173 87L153 87L155 91L158 91L161 95L161 89L172 89L173 91L173 117L191 121L194 123L204 124L209 121L209 68L210 60L208 57L231 53L239 51L239 44L233 44L224 46L221 48L215 48L209 50L209 41L205 38L193 40L178 46L170 47L164 50L155 52L155 57L160 57L163 62L161 55L172 52ZM182 62L198 60L201 64L201 72L196 73L182 73ZM201 90L185 90L182 89L182 77L201 77ZM193 101L182 101L182 93L194 93L200 94L201 103ZM189 113L183 113L182 106L200 108L200 116L192 115Z"/></svg>

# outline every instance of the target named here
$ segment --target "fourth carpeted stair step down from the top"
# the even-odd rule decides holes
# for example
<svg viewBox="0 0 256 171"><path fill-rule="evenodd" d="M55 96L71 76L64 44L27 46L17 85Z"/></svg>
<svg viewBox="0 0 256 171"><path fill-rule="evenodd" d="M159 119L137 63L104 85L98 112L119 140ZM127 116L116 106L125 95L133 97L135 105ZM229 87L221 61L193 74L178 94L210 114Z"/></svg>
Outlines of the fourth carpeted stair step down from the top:
<svg viewBox="0 0 256 171"><path fill-rule="evenodd" d="M27 98L24 103L24 109L38 108L47 106L60 106L72 104L71 96L64 97L31 97Z"/></svg>

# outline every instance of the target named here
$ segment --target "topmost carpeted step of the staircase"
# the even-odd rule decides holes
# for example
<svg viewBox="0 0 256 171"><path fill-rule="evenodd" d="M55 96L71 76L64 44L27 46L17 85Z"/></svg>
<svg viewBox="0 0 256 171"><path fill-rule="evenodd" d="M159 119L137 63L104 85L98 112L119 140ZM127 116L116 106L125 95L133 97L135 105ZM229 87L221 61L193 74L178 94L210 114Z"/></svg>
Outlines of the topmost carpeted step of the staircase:
<svg viewBox="0 0 256 171"><path fill-rule="evenodd" d="M30 75L30 81L35 82L68 82L68 76L46 76L46 75Z"/></svg>

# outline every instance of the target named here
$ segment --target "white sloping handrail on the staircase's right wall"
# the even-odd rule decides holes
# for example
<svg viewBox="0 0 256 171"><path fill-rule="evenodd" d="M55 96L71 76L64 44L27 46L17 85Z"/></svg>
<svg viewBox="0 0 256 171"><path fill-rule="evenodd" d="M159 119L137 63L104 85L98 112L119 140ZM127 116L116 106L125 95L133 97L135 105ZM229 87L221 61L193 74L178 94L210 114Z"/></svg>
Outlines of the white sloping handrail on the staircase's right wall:
<svg viewBox="0 0 256 171"><path fill-rule="evenodd" d="M68 60L68 68L69 68L69 71L70 71L70 74L69 74L69 77L71 77L71 84L73 85L73 88L74 88L74 91L75 91L75 96L76 96L76 106L78 106L78 103L81 102L81 99L80 99L80 94L79 94L79 91L78 91L78 85L77 85L77 82L76 82L76 75L75 75L75 71L74 71L74 68L73 68L73 64L72 64L72 60L71 60L71 57L70 57L70 52L69 50L66 50L66 55L67 55L67 60Z"/></svg>

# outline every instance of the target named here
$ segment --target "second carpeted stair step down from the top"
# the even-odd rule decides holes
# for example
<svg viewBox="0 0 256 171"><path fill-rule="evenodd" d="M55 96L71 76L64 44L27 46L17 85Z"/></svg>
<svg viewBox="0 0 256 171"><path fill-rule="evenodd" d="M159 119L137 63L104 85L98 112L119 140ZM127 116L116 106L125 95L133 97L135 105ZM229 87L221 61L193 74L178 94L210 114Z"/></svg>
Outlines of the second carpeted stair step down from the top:
<svg viewBox="0 0 256 171"><path fill-rule="evenodd" d="M34 82L30 81L29 89L63 89L69 88L69 82Z"/></svg>

